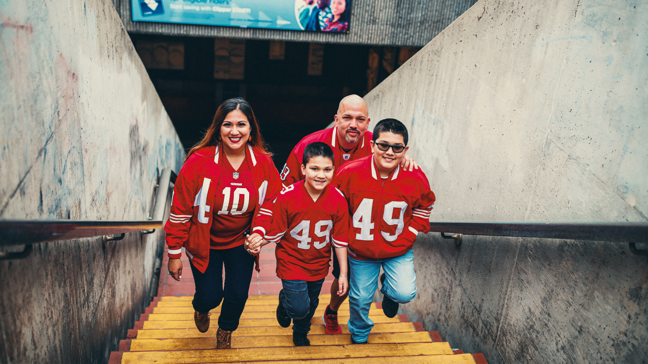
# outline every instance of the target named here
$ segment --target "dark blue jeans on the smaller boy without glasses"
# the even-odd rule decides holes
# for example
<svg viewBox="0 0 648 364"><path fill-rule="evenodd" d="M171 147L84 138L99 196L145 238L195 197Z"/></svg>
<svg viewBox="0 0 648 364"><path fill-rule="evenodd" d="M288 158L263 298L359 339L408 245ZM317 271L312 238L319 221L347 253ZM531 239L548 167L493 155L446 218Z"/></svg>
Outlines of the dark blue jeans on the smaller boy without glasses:
<svg viewBox="0 0 648 364"><path fill-rule="evenodd" d="M313 282L281 280L284 289L279 292L279 302L292 319L292 331L296 334L306 335L310 331L310 319L318 308L319 291L323 283L324 279Z"/></svg>

